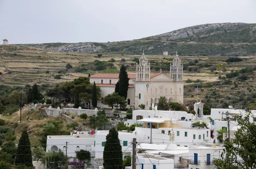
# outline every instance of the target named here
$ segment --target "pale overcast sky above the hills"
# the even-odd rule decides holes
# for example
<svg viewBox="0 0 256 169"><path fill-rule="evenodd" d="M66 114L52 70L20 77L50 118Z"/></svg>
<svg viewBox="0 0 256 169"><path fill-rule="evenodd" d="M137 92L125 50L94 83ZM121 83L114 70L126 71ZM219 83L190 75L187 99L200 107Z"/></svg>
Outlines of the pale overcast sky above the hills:
<svg viewBox="0 0 256 169"><path fill-rule="evenodd" d="M10 44L113 42L225 22L256 23L256 0L0 0L0 39Z"/></svg>

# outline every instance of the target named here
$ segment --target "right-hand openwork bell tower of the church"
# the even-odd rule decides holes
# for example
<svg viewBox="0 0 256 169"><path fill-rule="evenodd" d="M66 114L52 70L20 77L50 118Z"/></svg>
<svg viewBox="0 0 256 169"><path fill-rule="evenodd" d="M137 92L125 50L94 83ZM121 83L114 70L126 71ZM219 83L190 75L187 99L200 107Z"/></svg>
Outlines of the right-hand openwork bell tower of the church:
<svg viewBox="0 0 256 169"><path fill-rule="evenodd" d="M179 59L178 52L170 64L170 77L174 79L175 82L183 82L183 64L181 65L181 60Z"/></svg>

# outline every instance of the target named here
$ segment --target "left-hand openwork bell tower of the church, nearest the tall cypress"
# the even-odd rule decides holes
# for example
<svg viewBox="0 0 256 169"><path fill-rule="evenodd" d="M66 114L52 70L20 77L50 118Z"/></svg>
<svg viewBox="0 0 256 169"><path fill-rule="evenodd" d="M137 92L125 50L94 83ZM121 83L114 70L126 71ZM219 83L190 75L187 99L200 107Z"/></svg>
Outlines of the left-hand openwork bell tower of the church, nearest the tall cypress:
<svg viewBox="0 0 256 169"><path fill-rule="evenodd" d="M144 50L140 58L140 63L136 63L136 81L149 81L150 80L150 63L145 57Z"/></svg>

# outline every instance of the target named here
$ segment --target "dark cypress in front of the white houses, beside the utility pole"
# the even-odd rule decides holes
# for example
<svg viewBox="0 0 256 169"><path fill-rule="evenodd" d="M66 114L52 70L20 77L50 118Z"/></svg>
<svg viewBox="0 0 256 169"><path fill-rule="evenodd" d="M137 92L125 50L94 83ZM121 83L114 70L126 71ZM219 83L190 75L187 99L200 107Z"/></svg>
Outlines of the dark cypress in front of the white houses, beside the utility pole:
<svg viewBox="0 0 256 169"><path fill-rule="evenodd" d="M122 146L115 128L109 130L104 146L104 169L122 169Z"/></svg>

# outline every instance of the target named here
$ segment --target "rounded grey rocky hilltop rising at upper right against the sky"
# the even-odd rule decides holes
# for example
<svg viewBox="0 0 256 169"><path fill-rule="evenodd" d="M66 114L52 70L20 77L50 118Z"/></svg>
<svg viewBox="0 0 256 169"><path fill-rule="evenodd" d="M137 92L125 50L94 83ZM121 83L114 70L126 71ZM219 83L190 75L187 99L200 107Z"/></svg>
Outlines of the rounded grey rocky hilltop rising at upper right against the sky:
<svg viewBox="0 0 256 169"><path fill-rule="evenodd" d="M141 40L160 40L174 42L256 42L256 24L214 23L196 25L165 34L146 37Z"/></svg>

